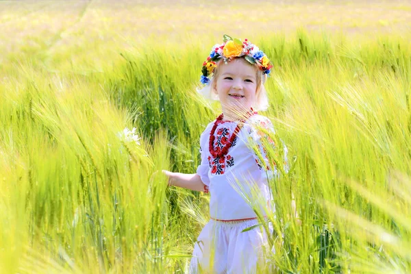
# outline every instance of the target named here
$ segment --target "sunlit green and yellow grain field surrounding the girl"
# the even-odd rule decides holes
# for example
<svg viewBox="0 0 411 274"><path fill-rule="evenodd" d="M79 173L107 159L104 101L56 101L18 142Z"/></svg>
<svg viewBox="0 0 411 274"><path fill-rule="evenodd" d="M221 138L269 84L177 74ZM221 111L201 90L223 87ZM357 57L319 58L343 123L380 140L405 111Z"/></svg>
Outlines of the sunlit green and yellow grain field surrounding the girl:
<svg viewBox="0 0 411 274"><path fill-rule="evenodd" d="M171 2L0 1L0 273L188 273L210 197L161 170L197 169L223 34L288 147L260 272L410 273L411 3Z"/></svg>

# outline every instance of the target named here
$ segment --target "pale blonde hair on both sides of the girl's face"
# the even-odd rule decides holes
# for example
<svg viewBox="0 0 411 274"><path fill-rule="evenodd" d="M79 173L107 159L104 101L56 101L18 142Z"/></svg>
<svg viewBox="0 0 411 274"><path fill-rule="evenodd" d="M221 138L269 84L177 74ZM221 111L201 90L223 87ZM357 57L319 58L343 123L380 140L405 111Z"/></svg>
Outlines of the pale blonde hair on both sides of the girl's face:
<svg viewBox="0 0 411 274"><path fill-rule="evenodd" d="M203 97L208 100L219 101L219 95L213 91L213 87L216 84L216 79L219 78L219 64L223 62L223 60L219 60L217 62L216 69L214 69L214 75L210 78L210 82L203 88L197 88L197 92L199 92ZM251 65L251 64L250 64ZM269 108L269 99L267 97L267 92L264 87L264 83L266 82L267 75L262 73L262 71L258 68L256 64L251 65L257 71L257 90L256 90L256 101L254 101L252 107L253 110L266 110Z"/></svg>

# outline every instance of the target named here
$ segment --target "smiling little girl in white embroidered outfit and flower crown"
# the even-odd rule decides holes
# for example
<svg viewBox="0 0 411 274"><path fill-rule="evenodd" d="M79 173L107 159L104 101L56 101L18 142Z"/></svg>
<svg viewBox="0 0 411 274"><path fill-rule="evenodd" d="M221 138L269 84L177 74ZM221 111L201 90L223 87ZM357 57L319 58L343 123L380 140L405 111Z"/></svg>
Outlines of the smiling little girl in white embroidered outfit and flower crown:
<svg viewBox="0 0 411 274"><path fill-rule="evenodd" d="M256 201L264 212L271 200L268 176L277 175L262 139L274 142L259 130L274 132L273 125L256 112L268 107L264 82L272 66L256 45L226 35L203 63L200 92L218 99L223 113L201 134L196 174L164 171L171 186L211 195L211 220L195 244L190 273L256 273L262 261L266 235L259 227L242 230L258 224Z"/></svg>

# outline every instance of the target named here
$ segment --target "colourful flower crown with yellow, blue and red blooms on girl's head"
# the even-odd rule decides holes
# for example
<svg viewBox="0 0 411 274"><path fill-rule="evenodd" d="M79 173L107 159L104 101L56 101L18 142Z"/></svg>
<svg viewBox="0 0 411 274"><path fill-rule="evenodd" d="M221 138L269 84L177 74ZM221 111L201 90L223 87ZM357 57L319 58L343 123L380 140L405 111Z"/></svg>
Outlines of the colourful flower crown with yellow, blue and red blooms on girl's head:
<svg viewBox="0 0 411 274"><path fill-rule="evenodd" d="M209 76L214 74L214 69L216 69L217 66L216 61L219 59L222 58L225 64L227 64L227 62L233 58L242 56L244 56L245 60L250 64L257 64L262 70L262 73L268 75L271 72L270 69L273 67L273 64L271 64L269 58L264 52L260 51L256 45L251 44L247 39L241 42L240 39L233 39L227 34L224 34L223 44L214 45L210 56L203 62L203 69L201 69L203 75L201 75L200 82L202 84L208 84L208 82L210 82Z"/></svg>

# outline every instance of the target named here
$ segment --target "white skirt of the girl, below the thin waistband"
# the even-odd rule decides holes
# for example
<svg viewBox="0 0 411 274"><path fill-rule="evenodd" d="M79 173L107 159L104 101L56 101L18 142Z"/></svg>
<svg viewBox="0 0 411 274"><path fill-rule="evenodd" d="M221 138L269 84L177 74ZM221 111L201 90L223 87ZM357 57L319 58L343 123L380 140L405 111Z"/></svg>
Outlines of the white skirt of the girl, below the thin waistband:
<svg viewBox="0 0 411 274"><path fill-rule="evenodd" d="M256 273L268 250L266 233L261 226L242 230L257 224L256 219L210 220L195 243L189 273Z"/></svg>

